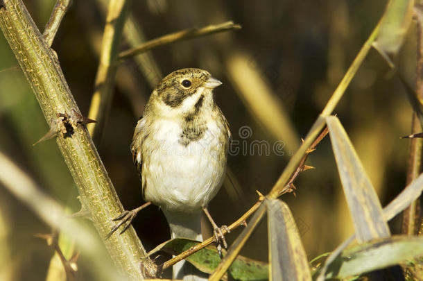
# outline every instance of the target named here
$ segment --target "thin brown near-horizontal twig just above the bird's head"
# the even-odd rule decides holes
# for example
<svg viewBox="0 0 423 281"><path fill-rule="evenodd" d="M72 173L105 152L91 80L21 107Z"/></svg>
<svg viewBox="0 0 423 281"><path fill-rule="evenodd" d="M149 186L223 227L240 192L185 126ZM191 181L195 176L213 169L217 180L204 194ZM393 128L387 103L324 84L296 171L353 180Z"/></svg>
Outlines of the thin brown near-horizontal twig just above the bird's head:
<svg viewBox="0 0 423 281"><path fill-rule="evenodd" d="M156 39L150 40L144 44L141 44L133 49L123 51L119 53L119 59L123 60L132 56L142 53L144 51L153 49L157 46L163 46L166 44L171 44L180 40L187 40L194 37L200 37L205 35L210 35L213 33L231 31L232 29L240 29L241 25L234 24L234 22L224 22L223 24L209 25L202 28L191 28L184 31L178 31Z"/></svg>

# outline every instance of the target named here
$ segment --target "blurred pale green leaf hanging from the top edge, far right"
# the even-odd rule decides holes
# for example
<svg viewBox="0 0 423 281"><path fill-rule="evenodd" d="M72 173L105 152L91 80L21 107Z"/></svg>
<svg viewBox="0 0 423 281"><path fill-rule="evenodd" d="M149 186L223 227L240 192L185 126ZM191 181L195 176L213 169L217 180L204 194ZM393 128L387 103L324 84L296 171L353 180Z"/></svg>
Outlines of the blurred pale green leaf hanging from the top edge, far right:
<svg viewBox="0 0 423 281"><path fill-rule="evenodd" d="M374 45L385 53L395 54L402 46L413 17L413 0L390 0L383 15Z"/></svg>

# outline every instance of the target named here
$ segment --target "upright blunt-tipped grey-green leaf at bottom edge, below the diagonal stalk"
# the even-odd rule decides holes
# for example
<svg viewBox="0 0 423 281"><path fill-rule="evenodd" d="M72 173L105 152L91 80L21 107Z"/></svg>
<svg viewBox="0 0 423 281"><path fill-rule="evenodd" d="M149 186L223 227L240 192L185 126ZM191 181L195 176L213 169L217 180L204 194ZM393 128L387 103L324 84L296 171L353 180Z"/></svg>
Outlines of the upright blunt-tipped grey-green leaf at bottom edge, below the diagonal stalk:
<svg viewBox="0 0 423 281"><path fill-rule="evenodd" d="M311 280L297 225L286 203L266 199L270 280Z"/></svg>

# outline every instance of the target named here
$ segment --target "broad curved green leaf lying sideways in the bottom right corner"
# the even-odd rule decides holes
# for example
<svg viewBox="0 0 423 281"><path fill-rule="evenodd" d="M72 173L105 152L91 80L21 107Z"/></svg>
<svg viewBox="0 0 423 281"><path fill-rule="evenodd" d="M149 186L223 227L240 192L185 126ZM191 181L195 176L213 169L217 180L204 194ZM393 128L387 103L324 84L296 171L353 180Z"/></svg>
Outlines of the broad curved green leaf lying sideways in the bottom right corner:
<svg viewBox="0 0 423 281"><path fill-rule="evenodd" d="M352 246L329 266L325 278L345 278L423 256L423 237L396 236Z"/></svg>

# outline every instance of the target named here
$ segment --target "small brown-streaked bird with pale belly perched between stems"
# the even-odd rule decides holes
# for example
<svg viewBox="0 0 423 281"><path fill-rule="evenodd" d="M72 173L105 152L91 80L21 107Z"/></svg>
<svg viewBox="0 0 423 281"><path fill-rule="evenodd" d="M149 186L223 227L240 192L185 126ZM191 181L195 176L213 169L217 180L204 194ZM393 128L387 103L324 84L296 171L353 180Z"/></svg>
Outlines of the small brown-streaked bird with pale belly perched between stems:
<svg viewBox="0 0 423 281"><path fill-rule="evenodd" d="M216 242L220 239L226 246L206 209L225 178L231 139L213 96L213 89L221 84L202 69L180 69L166 76L138 121L131 152L141 176L142 195L162 209L172 238L202 241L204 210L214 226ZM137 209L127 212L126 219L132 220ZM192 280L196 274L187 275L192 271L189 266L175 264L173 278Z"/></svg>

